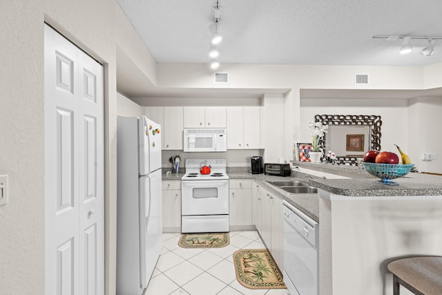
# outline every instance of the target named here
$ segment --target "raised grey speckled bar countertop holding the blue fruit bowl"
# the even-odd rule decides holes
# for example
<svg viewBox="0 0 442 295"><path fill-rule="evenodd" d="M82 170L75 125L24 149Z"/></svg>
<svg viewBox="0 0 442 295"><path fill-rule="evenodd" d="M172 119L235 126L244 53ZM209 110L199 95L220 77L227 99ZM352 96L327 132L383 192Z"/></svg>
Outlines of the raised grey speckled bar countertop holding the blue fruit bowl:
<svg viewBox="0 0 442 295"><path fill-rule="evenodd" d="M386 185L374 182L378 178L369 175L365 169L360 169L358 166L303 162L294 162L294 166L351 178L323 179L316 177L309 180L309 184L312 186L340 196L442 196L442 177L439 175L408 173L403 178L393 180L398 182L398 185ZM295 175L304 174L294 170Z"/></svg>

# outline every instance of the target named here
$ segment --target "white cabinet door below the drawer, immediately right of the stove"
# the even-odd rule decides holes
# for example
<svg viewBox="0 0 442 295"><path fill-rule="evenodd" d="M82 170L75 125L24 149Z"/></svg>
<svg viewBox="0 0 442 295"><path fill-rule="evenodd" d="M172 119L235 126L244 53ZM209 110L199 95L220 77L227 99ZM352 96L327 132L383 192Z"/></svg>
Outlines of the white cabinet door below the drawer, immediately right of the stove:
<svg viewBox="0 0 442 295"><path fill-rule="evenodd" d="M229 189L230 225L251 225L251 189Z"/></svg>

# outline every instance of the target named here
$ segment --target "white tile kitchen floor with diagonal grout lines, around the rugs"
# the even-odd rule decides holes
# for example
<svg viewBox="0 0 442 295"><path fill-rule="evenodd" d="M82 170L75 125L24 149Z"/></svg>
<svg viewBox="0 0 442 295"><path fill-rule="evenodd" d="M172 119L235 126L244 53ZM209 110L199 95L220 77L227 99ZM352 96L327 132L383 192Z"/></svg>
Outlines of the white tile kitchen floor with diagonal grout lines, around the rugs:
<svg viewBox="0 0 442 295"><path fill-rule="evenodd" d="M145 295L289 295L287 289L248 289L236 280L233 253L265 248L256 231L231 231L230 245L211 249L178 246L181 234L163 234L163 247Z"/></svg>

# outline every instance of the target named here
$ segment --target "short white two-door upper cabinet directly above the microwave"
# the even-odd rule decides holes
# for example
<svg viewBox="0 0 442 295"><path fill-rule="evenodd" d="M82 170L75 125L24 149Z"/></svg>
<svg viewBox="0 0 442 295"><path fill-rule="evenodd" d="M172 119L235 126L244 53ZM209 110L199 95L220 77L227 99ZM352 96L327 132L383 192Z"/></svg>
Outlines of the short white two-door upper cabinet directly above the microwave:
<svg viewBox="0 0 442 295"><path fill-rule="evenodd" d="M184 106L184 128L226 128L226 107Z"/></svg>

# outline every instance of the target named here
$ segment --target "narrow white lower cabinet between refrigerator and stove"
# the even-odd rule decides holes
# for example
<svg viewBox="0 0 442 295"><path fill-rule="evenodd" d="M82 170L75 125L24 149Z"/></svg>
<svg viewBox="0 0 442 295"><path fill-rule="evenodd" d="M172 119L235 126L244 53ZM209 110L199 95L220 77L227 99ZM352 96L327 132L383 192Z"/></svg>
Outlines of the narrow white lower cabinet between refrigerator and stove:
<svg viewBox="0 0 442 295"><path fill-rule="evenodd" d="M181 231L181 181L163 180L163 231Z"/></svg>

